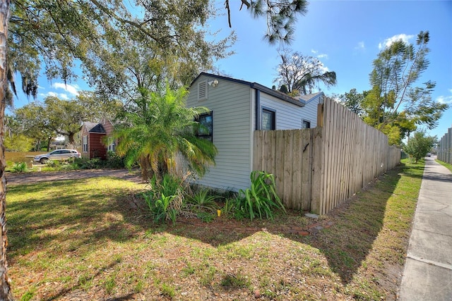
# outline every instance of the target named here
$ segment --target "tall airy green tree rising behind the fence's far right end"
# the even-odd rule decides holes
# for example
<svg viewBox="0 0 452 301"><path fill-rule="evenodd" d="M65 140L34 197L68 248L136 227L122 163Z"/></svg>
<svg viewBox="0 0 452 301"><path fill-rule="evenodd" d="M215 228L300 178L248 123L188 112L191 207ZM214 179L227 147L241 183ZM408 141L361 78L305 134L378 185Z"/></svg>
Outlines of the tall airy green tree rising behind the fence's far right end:
<svg viewBox="0 0 452 301"><path fill-rule="evenodd" d="M423 125L436 128L447 104L432 99L435 82L426 80L417 86L429 66L429 32L421 31L416 43L398 40L381 50L369 74L371 90L362 94L350 91L340 96L348 109L359 113L364 122L388 135L392 145Z"/></svg>

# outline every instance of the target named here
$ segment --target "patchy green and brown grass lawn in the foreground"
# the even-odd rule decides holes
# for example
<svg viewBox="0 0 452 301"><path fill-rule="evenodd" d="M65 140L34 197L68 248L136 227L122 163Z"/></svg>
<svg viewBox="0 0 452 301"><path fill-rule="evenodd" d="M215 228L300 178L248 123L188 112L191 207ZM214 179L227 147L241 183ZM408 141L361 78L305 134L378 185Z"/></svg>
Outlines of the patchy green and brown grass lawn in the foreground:
<svg viewBox="0 0 452 301"><path fill-rule="evenodd" d="M155 225L144 185L114 178L8 187L8 264L18 300L393 300L423 164L307 218ZM138 205L138 206L137 206Z"/></svg>

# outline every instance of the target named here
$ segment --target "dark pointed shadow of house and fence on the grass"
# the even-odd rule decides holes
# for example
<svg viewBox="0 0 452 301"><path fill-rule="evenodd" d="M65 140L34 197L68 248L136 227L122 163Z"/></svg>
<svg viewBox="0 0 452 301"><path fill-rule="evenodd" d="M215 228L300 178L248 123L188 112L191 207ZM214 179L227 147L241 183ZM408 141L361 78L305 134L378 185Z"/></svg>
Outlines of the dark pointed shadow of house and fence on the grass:
<svg viewBox="0 0 452 301"><path fill-rule="evenodd" d="M415 169L417 168L419 172L423 169L422 166L415 166ZM253 223L228 220L215 220L213 223L182 221L178 222L177 226L167 226L166 231L218 247L242 240L265 229L274 235L283 235L319 249L328 259L333 272L347 284L352 281L353 276L362 266L362 262L367 258L376 237L382 230L387 201L396 190L402 174L412 178L422 178L422 173L421 176L417 173L407 175L403 164L388 171L376 183L331 211L328 214L328 221L332 221L333 226L324 228L314 235L299 235L299 230L303 226L293 223L297 221L296 219L290 220L285 216L279 216L275 221L254 221ZM400 205L403 206L403 204ZM304 228L307 227L304 226Z"/></svg>

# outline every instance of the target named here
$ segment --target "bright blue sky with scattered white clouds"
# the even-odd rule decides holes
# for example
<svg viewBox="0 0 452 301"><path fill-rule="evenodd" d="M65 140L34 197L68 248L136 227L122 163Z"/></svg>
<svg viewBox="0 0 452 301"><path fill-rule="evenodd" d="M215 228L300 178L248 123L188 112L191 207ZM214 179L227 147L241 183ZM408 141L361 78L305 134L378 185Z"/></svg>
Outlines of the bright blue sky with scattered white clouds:
<svg viewBox="0 0 452 301"><path fill-rule="evenodd" d="M238 39L232 47L236 54L216 66L223 75L271 87L280 62L278 44L272 46L263 40L264 18L253 19L245 10L239 11L240 1L230 2L232 30ZM215 3L221 8L224 1ZM208 26L222 29L219 38L230 32L227 16L219 16ZM432 97L452 106L452 1L311 1L307 15L297 20L290 48L319 57L324 66L335 71L338 85L321 87L327 95L352 88L361 92L370 89L372 61L381 47L393 37L415 42L421 30L430 32L430 65L418 84L435 81ZM58 80L42 78L40 86L40 99L49 94L73 98L77 91L89 89L81 80L65 87ZM23 96L15 99L16 107L27 103ZM427 133L441 138L450 127L452 107L443 114L439 126Z"/></svg>

